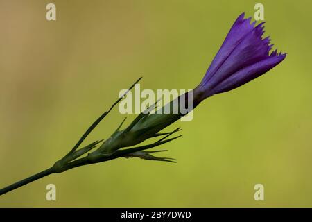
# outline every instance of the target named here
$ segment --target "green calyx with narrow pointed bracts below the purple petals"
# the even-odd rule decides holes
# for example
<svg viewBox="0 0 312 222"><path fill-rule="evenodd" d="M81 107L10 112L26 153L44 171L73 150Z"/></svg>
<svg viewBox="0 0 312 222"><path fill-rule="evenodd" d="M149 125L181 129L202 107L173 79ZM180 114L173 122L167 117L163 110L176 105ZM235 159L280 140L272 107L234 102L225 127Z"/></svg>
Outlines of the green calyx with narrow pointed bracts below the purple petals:
<svg viewBox="0 0 312 222"><path fill-rule="evenodd" d="M125 94L127 94L132 87L136 83L139 82L141 78L139 78ZM125 96L123 95L123 97ZM100 121L106 117L106 115L114 108L116 104L123 99L123 97L119 98L108 110L104 112L101 117L96 119L96 121L90 126L87 131L80 138L78 143L65 155L61 160L58 160L53 165L53 169L55 172L60 173L62 171L66 171L73 167L79 167L86 164L93 164L97 162L104 162L107 160L113 160L119 157L139 157L144 160L157 160L157 161L166 161L166 162L175 162L174 159L168 157L155 157L151 155L151 153L157 153L161 151L146 151L146 149L153 148L155 146L160 146L162 144L166 144L167 142L171 142L173 139L177 139L180 136L176 136L170 139L167 139L169 136L173 135L180 131L180 128L177 128L168 133L159 133L160 130L166 128L171 125L171 123L177 121L182 116L181 114L150 114L152 110L155 110L156 103L149 108L147 108L144 112L141 112L128 127L121 130L125 119L119 124L114 133L106 139L106 140L98 140L93 142L83 148L78 148L83 140L92 132L92 130L100 123ZM144 142L146 139L150 139L153 137L161 137L161 139L157 140L148 145L136 146ZM98 146L101 142L101 146ZM135 147L133 147L135 146ZM129 147L129 148L128 148ZM97 148L97 149L96 149ZM86 155L87 154L87 155Z"/></svg>

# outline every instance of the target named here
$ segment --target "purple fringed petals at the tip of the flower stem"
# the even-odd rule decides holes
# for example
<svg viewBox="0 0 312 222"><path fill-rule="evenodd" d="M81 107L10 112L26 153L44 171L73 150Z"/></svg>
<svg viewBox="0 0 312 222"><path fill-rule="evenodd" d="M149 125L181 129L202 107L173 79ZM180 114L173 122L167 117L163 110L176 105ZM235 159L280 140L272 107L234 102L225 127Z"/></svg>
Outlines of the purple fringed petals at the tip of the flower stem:
<svg viewBox="0 0 312 222"><path fill-rule="evenodd" d="M241 14L227 34L202 82L194 89L195 99L203 99L227 92L265 74L284 60L286 54L272 49L270 38L262 38L263 24L250 24L251 17Z"/></svg>

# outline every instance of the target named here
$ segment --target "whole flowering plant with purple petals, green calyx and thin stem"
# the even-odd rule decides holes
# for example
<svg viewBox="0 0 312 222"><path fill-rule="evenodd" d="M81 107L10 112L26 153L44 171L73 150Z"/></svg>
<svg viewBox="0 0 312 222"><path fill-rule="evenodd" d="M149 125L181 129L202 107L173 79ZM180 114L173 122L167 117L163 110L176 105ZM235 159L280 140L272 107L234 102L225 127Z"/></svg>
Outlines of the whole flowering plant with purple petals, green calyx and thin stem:
<svg viewBox="0 0 312 222"><path fill-rule="evenodd" d="M244 19L244 13L234 22L225 41L214 60L211 62L204 78L202 78L201 83L193 89L193 108L196 108L202 101L210 96L230 91L265 74L286 57L285 53L278 53L277 49L270 52L273 45L270 44L270 37L263 38L263 23L255 26L255 22L252 24L250 22L251 18ZM139 80L141 80L141 78L139 78L135 84L138 83ZM128 89L128 92L134 85ZM127 94L127 92L125 94ZM119 157L139 157L144 160L175 162L173 158L155 157L152 155L152 153L162 152L163 150L147 150L155 146L166 144L180 137L179 135L168 139L168 137L180 131L180 128L168 133L159 132L180 119L184 114L182 114L183 112L152 114L150 111L155 109L155 105L141 112L128 127L121 129L125 121L124 119L108 139L104 141L98 140L83 148L79 148L87 135L89 135L98 123L110 113L112 108L114 108L121 99L123 99L123 97L119 98L108 111L101 115L101 117L98 117L83 136L80 137L71 151L62 157L62 159L55 162L52 167L0 189L0 195L6 194L8 191L17 189L18 187L52 173L62 173L74 167L105 162ZM177 99L183 99L188 103L189 92ZM174 101L171 101L171 103L166 105L169 105L172 109L173 103ZM164 109L166 105L161 109ZM141 142L153 137L161 137L161 139L158 139L152 144L137 146L141 144Z"/></svg>

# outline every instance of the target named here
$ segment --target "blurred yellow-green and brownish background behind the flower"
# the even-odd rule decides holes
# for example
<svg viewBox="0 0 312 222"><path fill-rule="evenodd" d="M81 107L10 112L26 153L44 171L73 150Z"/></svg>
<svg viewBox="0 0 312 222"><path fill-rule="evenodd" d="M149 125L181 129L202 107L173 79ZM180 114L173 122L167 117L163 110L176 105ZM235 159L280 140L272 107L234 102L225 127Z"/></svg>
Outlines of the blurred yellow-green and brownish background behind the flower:
<svg viewBox="0 0 312 222"><path fill-rule="evenodd" d="M266 35L288 53L171 126L184 136L159 148L177 164L72 169L1 196L0 207L312 207L311 1L0 2L1 188L60 159L139 76L143 89L195 87L255 3L265 7ZM47 3L55 22L46 21ZM86 143L122 119L115 109ZM49 183L56 201L45 198ZM254 200L257 183L264 201Z"/></svg>

